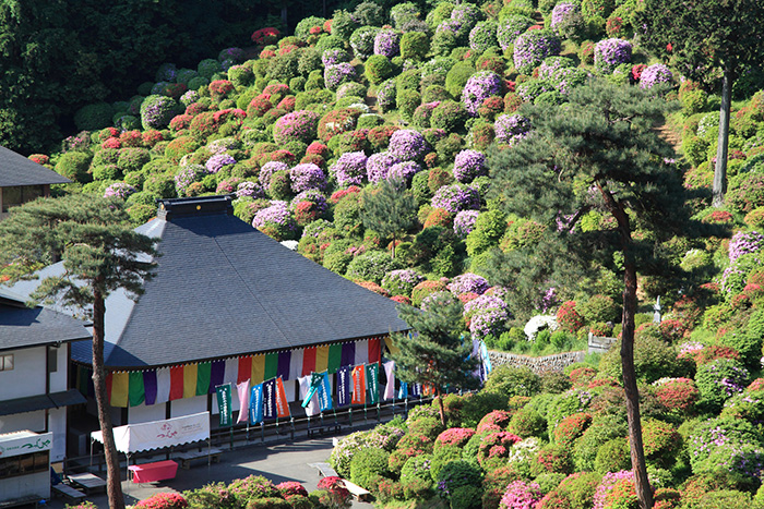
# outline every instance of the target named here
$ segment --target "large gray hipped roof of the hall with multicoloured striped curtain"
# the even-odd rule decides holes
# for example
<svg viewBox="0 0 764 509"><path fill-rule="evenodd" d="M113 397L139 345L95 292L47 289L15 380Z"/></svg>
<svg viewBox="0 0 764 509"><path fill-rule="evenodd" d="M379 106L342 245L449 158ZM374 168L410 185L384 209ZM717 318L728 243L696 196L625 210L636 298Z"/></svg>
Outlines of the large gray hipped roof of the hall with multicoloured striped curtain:
<svg viewBox="0 0 764 509"><path fill-rule="evenodd" d="M395 302L225 211L168 217L138 229L162 239L157 274L144 294L134 302L117 291L106 301L109 367L177 364L408 329ZM57 270L60 264L44 274ZM14 290L28 293L32 287ZM89 342L74 344L72 359L89 364Z"/></svg>

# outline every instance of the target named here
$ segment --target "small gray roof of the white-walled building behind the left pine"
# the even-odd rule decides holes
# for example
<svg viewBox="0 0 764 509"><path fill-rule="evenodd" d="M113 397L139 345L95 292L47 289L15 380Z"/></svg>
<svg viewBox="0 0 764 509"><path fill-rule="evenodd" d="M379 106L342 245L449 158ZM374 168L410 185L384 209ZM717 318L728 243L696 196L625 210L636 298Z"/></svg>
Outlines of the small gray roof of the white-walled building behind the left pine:
<svg viewBox="0 0 764 509"><path fill-rule="evenodd" d="M26 307L23 298L0 290L0 351L91 339L87 325L45 307Z"/></svg>

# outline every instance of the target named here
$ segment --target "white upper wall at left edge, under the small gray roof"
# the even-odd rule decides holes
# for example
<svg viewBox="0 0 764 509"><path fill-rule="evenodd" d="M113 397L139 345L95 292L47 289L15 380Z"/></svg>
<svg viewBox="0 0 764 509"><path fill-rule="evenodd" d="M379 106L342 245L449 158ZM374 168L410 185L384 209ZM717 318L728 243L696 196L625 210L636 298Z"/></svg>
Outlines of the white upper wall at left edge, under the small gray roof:
<svg viewBox="0 0 764 509"><path fill-rule="evenodd" d="M13 369L0 372L0 401L45 393L46 348L25 348L13 354ZM65 362L64 364L65 368Z"/></svg>

